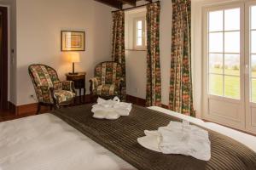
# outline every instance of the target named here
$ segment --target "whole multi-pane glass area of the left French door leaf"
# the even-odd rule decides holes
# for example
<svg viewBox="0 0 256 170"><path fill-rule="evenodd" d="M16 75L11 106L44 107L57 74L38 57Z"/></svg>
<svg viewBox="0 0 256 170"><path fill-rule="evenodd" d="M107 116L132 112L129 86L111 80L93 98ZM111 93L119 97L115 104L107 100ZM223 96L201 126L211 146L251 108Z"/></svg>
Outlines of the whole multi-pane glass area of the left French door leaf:
<svg viewBox="0 0 256 170"><path fill-rule="evenodd" d="M240 35L240 8L208 13L209 94L240 99Z"/></svg>

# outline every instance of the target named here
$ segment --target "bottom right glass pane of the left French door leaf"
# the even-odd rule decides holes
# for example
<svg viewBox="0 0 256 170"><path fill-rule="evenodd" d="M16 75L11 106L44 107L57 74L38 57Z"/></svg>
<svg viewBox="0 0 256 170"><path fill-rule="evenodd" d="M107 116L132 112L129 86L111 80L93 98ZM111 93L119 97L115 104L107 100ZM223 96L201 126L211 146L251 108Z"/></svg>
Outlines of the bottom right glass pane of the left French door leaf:
<svg viewBox="0 0 256 170"><path fill-rule="evenodd" d="M240 77L225 76L225 97L240 99Z"/></svg>

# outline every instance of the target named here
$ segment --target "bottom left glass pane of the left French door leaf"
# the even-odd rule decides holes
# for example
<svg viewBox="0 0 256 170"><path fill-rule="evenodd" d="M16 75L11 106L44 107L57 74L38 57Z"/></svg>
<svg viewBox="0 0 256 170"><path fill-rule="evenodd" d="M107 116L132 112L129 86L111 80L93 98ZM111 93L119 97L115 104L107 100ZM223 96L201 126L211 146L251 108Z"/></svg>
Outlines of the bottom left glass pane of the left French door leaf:
<svg viewBox="0 0 256 170"><path fill-rule="evenodd" d="M209 94L223 96L223 76L209 75Z"/></svg>

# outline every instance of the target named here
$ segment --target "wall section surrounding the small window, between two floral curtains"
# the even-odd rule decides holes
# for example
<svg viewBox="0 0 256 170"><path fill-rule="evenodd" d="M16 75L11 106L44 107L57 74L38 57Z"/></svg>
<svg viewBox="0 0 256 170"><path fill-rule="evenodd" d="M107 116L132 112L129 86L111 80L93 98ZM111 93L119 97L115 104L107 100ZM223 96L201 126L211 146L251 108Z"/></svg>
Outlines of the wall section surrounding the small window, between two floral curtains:
<svg viewBox="0 0 256 170"><path fill-rule="evenodd" d="M134 19L146 17L146 8L125 11L125 59L126 59L126 92L132 96L146 97L147 51L133 50Z"/></svg>

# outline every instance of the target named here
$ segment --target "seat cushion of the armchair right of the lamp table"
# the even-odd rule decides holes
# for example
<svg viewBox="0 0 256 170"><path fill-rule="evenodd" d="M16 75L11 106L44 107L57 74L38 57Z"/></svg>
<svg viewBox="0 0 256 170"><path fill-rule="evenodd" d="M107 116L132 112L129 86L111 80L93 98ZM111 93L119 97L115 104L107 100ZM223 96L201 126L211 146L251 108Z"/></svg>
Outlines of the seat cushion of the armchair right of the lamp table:
<svg viewBox="0 0 256 170"><path fill-rule="evenodd" d="M115 84L104 84L104 85L98 86L94 90L94 94L98 96L119 95L119 88Z"/></svg>

